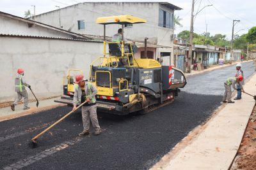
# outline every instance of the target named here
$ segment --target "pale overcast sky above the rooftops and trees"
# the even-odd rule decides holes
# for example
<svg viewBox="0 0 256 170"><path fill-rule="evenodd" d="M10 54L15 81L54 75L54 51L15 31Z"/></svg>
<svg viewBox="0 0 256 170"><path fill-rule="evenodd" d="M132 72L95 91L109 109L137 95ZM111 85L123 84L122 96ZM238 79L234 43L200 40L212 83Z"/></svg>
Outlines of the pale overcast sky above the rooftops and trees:
<svg viewBox="0 0 256 170"><path fill-rule="evenodd" d="M24 17L24 11L33 13L36 7L36 15L85 1L81 0L0 0L0 11ZM101 1L102 2L102 1ZM113 1L112 1L113 2ZM156 2L156 1L155 1ZM175 11L175 15L182 18L180 22L183 27L177 26L175 34L183 30L189 30L192 0L170 0L161 1L172 3L183 10ZM212 6L207 6L212 4ZM204 6L207 6L204 8ZM231 39L232 20L241 20L234 27L234 33L241 35L256 26L256 1L255 0L195 0L195 14L200 11L194 22L194 32L202 34L206 31L214 34L225 34ZM129 13L127 13L129 14ZM207 26L206 26L207 25Z"/></svg>

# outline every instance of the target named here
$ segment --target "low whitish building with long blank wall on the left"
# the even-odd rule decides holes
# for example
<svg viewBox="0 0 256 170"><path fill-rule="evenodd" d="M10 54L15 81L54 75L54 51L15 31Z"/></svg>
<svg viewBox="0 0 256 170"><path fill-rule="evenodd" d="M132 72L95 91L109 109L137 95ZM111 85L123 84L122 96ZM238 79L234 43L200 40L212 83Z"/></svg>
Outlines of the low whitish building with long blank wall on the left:
<svg viewBox="0 0 256 170"><path fill-rule="evenodd" d="M88 76L90 63L102 53L102 41L74 32L3 12L0 23L0 103L13 101L19 67L37 97L59 96L68 69L82 69Z"/></svg>

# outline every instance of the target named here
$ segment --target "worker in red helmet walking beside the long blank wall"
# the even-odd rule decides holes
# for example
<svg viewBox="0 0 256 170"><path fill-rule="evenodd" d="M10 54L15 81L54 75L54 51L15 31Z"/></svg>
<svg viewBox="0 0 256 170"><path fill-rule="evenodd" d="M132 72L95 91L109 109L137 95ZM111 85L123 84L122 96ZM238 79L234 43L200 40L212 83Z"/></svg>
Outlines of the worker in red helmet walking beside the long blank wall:
<svg viewBox="0 0 256 170"><path fill-rule="evenodd" d="M15 97L15 101L11 105L12 111L15 111L15 105L24 98L24 107L23 110L28 110L28 92L25 87L30 87L30 85L24 80L24 69L17 70L17 76L15 78L15 92L17 92L17 96Z"/></svg>

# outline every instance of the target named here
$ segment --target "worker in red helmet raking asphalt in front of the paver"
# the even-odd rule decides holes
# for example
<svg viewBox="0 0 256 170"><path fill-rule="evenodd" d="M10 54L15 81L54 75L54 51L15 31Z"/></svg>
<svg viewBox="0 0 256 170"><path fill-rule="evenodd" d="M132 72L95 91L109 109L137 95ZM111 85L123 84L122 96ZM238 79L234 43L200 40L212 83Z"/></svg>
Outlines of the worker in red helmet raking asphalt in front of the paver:
<svg viewBox="0 0 256 170"><path fill-rule="evenodd" d="M73 97L73 110L76 109L77 104L84 103L82 106L82 118L83 118L83 132L79 133L79 136L84 136L89 134L90 120L95 129L94 134L100 134L100 126L97 118L97 106L96 98L97 89L92 83L85 81L84 76L79 74L76 76L75 81L75 93Z"/></svg>

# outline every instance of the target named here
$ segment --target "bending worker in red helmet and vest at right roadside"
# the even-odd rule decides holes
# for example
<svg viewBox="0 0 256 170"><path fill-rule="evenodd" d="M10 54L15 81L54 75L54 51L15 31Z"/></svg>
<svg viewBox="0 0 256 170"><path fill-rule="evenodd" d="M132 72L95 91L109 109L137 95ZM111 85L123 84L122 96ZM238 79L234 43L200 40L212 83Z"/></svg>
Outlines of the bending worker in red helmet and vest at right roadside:
<svg viewBox="0 0 256 170"><path fill-rule="evenodd" d="M242 75L239 75L237 77L230 77L225 81L225 83L224 83L225 92L224 92L223 100L222 100L223 103L235 103L234 101L231 101L231 94L232 94L231 85L234 90L237 90L236 83L240 84L242 81L243 81ZM241 85L241 91L244 92L242 85Z"/></svg>

